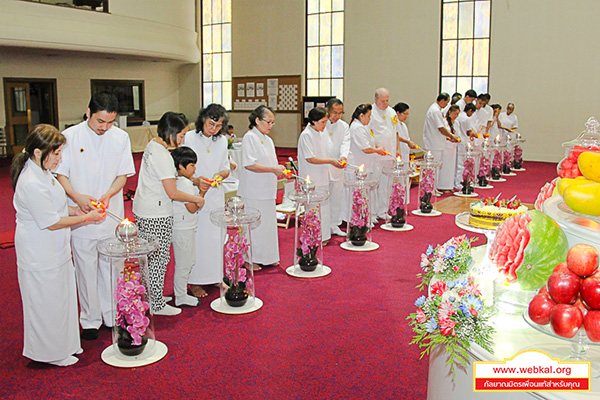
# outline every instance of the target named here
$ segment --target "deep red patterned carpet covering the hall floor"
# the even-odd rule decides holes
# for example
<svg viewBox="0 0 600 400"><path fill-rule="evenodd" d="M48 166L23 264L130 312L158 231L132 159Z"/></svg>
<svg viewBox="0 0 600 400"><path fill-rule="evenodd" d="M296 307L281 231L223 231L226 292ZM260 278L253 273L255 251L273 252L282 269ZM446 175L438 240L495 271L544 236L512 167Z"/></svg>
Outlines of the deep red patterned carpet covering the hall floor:
<svg viewBox="0 0 600 400"><path fill-rule="evenodd" d="M526 172L485 194L518 194L532 203L555 176L555 165L526 162L525 167ZM0 232L14 227L7 175L8 169L0 168ZM411 232L374 230L373 239L381 245L375 252L344 251L341 238L334 237L324 250L333 272L311 280L285 274L292 263L294 231L280 228L281 267L256 276L261 310L240 316L215 313L209 307L218 296L215 288L198 308L155 318L157 339L169 353L135 369L101 361L111 343L107 329L98 340L82 343L85 352L72 367L24 358L15 253L0 250L0 398L425 399L428 361L419 360L418 348L408 345L412 335L406 321L418 296L419 256L429 243L464 232L452 215L408 218L415 226ZM173 292L172 274L171 264L167 295Z"/></svg>

